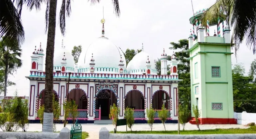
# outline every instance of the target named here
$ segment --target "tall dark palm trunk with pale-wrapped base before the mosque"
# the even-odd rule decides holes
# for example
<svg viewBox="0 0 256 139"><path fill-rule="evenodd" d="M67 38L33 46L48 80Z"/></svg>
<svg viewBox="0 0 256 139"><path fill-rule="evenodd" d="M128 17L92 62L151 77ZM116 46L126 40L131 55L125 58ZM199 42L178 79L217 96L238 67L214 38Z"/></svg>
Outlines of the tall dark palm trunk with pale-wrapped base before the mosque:
<svg viewBox="0 0 256 139"><path fill-rule="evenodd" d="M43 132L53 132L53 57L56 29L57 0L50 0L49 24L46 46L45 62L45 111L43 121Z"/></svg>

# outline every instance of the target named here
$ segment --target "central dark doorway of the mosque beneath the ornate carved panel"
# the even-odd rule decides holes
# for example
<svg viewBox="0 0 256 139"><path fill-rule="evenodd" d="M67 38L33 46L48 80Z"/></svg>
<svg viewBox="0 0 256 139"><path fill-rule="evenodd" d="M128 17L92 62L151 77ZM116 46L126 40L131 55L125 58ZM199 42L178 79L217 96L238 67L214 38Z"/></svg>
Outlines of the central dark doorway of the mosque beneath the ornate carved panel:
<svg viewBox="0 0 256 139"><path fill-rule="evenodd" d="M110 89L100 90L96 96L96 109L101 109L101 119L109 119L110 106L117 105L115 93Z"/></svg>

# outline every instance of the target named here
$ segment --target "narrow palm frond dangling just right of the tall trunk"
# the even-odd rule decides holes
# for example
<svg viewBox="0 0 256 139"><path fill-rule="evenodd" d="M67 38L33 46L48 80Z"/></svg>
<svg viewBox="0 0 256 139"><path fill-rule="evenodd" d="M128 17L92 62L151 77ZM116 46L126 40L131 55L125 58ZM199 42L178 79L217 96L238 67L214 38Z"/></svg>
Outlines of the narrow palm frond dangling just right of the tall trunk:
<svg viewBox="0 0 256 139"><path fill-rule="evenodd" d="M65 29L66 29L66 21L65 21L66 5L65 4L66 4L66 0L62 0L61 11L60 11L60 28L63 36L65 34Z"/></svg>

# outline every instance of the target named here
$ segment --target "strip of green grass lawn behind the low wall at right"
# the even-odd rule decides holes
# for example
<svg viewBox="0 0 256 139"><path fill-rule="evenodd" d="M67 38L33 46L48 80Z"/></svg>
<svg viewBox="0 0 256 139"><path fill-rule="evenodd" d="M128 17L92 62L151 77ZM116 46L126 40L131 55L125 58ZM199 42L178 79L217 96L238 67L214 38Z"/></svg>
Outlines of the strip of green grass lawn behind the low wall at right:
<svg viewBox="0 0 256 139"><path fill-rule="evenodd" d="M126 131L116 131L117 133L125 134ZM114 133L110 131L110 133ZM128 131L132 134L178 134L178 131ZM256 134L256 126L251 126L247 129L229 128L229 129L211 129L211 130L181 130L181 134Z"/></svg>

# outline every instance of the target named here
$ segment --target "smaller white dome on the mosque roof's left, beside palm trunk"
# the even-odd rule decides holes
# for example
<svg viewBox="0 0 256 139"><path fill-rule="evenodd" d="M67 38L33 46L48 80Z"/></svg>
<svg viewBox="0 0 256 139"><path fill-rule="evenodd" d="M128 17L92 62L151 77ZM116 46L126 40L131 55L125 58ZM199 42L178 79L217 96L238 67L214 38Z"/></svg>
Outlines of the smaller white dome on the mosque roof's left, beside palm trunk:
<svg viewBox="0 0 256 139"><path fill-rule="evenodd" d="M57 55L54 55L54 66L61 66L62 58L65 52L65 58L66 58L66 67L74 68L75 67L75 62L73 59L73 56L71 55L70 52L68 52L65 47L62 47L60 50L58 50Z"/></svg>

